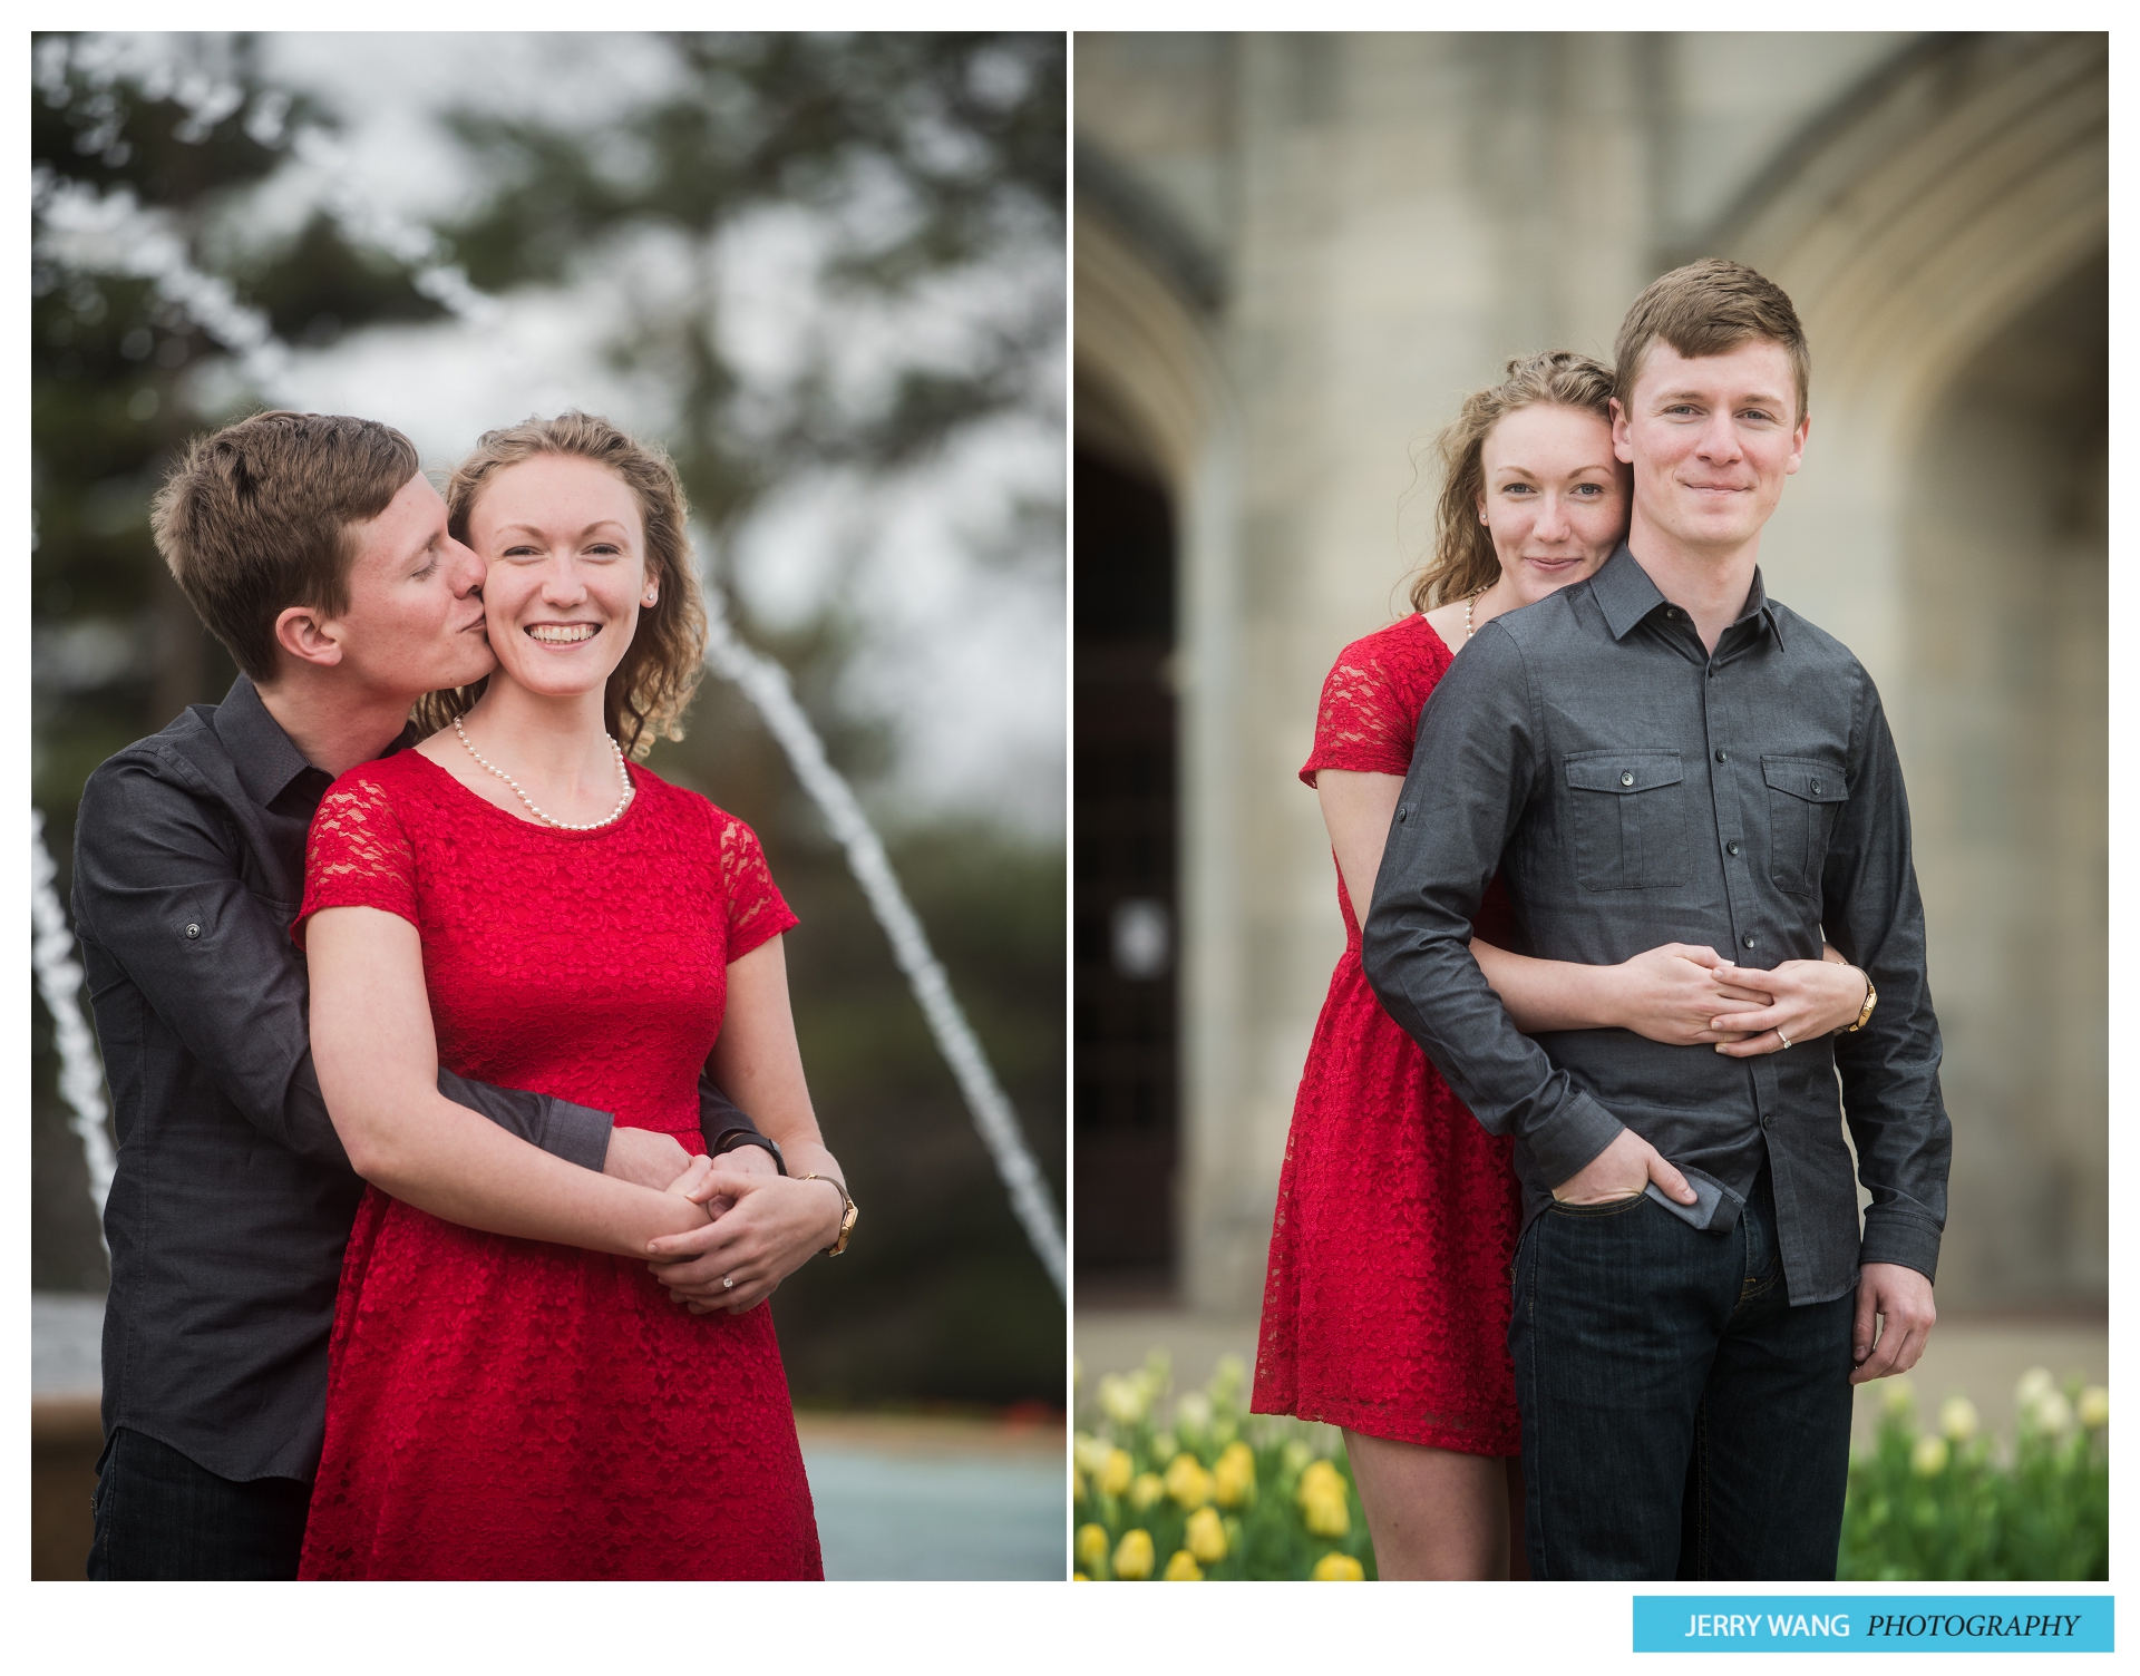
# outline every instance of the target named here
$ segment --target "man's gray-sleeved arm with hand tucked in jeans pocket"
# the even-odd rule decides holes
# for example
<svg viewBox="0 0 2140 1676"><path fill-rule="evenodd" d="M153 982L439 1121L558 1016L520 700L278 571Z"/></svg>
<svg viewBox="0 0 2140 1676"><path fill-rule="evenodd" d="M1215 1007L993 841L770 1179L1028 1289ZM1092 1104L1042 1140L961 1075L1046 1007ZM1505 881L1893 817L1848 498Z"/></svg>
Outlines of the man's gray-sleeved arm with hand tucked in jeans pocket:
<svg viewBox="0 0 2140 1676"><path fill-rule="evenodd" d="M1367 982L1481 1126L1522 1139L1547 1182L1588 1197L1592 1188L1639 1192L1639 1179L1658 1179L1686 1203L1693 1194L1680 1173L1515 1027L1470 953L1472 914L1537 775L1522 651L1489 623L1419 719L1361 927ZM1614 1145L1620 1152L1607 1160ZM1618 1167L1614 1184L1581 1179L1592 1162ZM1637 1164L1639 1179L1618 1182Z"/></svg>

